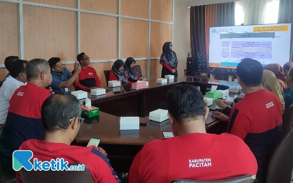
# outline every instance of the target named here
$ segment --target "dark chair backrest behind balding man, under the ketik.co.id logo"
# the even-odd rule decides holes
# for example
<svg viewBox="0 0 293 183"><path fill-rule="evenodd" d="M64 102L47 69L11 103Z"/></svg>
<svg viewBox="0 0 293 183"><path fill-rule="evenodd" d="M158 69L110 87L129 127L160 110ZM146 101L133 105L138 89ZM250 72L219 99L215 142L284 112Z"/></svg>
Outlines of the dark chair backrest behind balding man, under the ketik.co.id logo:
<svg viewBox="0 0 293 183"><path fill-rule="evenodd" d="M68 163L68 167L79 164L82 165L82 163ZM84 171L26 171L22 168L20 173L23 183L94 183L85 164Z"/></svg>

